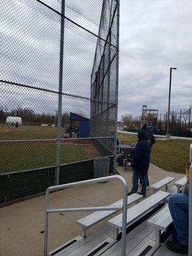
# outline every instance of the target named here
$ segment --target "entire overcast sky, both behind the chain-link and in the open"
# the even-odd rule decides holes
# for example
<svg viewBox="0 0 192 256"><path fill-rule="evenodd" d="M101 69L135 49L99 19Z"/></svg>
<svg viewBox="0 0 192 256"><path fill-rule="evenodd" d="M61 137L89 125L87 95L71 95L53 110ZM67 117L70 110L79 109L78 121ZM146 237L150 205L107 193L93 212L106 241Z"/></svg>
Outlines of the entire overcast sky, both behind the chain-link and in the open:
<svg viewBox="0 0 192 256"><path fill-rule="evenodd" d="M34 6L40 5L27 0L0 1L3 11L0 17L3 38L0 76L17 83L55 89L58 87L60 17L47 8L43 8L43 11L40 8L28 8L24 4L28 2L34 3ZM60 1L46 0L45 3L60 10ZM102 0L67 0L66 3L66 12L70 18L97 31L98 26L94 22L99 24ZM91 3L92 12L88 3ZM147 104L148 108L159 109L159 113L166 112L170 67L178 68L173 70L171 108L179 110L189 108L192 104L191 22L191 0L120 0L118 120L125 113L140 115L143 104ZM76 29L67 21L65 28L63 90L88 97L97 38L90 38L88 33ZM20 93L18 88L12 88L10 93L6 88L6 96L1 95L1 98L4 97L4 105L9 108L19 105L53 113L56 109L54 97L40 97L38 94L41 93L35 91L30 94L33 97L29 97L26 90ZM49 106L44 102L47 99ZM63 111L82 109L87 116L90 115L86 100L74 102L65 99L64 103Z"/></svg>

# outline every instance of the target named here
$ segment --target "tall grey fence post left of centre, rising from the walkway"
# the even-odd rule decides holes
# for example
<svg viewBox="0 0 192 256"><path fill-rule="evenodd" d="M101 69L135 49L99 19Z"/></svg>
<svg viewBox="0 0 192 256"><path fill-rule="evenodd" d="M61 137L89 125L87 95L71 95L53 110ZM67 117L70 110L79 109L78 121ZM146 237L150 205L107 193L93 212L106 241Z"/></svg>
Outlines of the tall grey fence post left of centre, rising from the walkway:
<svg viewBox="0 0 192 256"><path fill-rule="evenodd" d="M58 132L56 149L56 185L60 184L60 155L61 155L61 116L62 116L62 90L63 90L63 49L64 49L64 24L65 0L61 1L61 34L60 34L60 77L58 99Z"/></svg>

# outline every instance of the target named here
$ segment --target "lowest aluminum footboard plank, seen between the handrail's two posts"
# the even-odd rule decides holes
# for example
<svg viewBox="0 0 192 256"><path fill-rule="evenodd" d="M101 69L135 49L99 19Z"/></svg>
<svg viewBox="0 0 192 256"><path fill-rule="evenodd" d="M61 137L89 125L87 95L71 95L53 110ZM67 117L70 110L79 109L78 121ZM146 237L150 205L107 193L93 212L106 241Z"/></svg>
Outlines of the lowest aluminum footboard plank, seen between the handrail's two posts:
<svg viewBox="0 0 192 256"><path fill-rule="evenodd" d="M101 243L112 234L113 230L108 226L104 226L99 231L88 236L86 239L83 239L83 241L80 241L67 251L63 253L61 252L57 256L81 256L89 250L92 250L93 247L97 246L97 244Z"/></svg>

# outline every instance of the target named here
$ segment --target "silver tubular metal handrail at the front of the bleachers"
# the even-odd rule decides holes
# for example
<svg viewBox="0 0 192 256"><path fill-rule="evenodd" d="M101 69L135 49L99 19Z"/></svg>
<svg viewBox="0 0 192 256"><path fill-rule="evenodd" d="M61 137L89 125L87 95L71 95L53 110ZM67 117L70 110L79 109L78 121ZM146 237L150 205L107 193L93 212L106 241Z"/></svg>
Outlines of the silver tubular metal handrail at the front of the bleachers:
<svg viewBox="0 0 192 256"><path fill-rule="evenodd" d="M104 207L79 207L79 208L65 208L65 209L49 209L49 192L54 191L57 189L62 188L69 188L69 187L75 187L75 186L81 186L86 184L92 184L97 182L103 182L108 180L114 180L118 179L122 182L124 187L124 198L123 198L123 205L118 207L110 207L110 206L104 206ZM56 213L56 212L83 212L83 211L109 211L109 210L123 210L122 215L122 252L121 256L125 256L126 251L126 226L127 226L127 182L126 180L120 176L120 175L113 175L109 177L102 177L97 179L91 179L91 180L83 180L79 182L74 183L68 183L63 184L59 186L52 186L47 188L46 191L46 205L45 205L45 235L44 235L44 256L48 256L47 254L47 248L48 248L48 225L49 225L49 213Z"/></svg>

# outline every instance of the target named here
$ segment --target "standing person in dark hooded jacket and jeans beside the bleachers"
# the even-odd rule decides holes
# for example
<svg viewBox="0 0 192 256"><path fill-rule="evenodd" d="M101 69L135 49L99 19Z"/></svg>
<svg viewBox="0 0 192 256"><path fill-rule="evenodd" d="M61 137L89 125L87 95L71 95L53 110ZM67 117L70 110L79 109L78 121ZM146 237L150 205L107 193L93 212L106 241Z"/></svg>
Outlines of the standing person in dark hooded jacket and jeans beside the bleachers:
<svg viewBox="0 0 192 256"><path fill-rule="evenodd" d="M150 163L150 143L147 141L145 132L138 132L138 143L133 152L131 167L132 173L132 193L138 192L138 180L141 178L141 195L146 196L147 172Z"/></svg>

